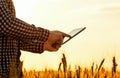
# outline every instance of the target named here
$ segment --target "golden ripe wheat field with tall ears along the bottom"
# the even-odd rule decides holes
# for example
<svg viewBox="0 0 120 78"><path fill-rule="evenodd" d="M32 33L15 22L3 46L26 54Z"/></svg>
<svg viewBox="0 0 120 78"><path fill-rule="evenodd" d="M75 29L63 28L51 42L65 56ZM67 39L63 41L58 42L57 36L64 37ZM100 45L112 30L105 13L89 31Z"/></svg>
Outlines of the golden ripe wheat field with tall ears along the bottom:
<svg viewBox="0 0 120 78"><path fill-rule="evenodd" d="M113 64L109 71L103 67L104 61L105 58L98 65L95 65L93 62L90 68L81 68L79 65L76 65L73 71L71 70L71 66L67 65L66 56L63 54L61 62L58 64L58 70L48 70L46 68L43 71L26 71L24 68L23 77L18 77L19 73L13 73L16 69L14 66L11 66L10 78L120 78L120 71L117 70L118 64L116 63L115 56L111 60Z"/></svg>

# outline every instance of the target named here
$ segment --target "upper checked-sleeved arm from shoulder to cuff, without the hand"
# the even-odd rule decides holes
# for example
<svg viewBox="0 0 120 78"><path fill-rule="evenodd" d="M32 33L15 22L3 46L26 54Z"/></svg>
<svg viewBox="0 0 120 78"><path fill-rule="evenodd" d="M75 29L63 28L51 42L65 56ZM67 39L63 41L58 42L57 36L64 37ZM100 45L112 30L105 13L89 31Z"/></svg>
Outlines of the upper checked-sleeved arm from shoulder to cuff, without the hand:
<svg viewBox="0 0 120 78"><path fill-rule="evenodd" d="M43 28L36 28L16 18L7 8L5 1L0 1L0 34L18 39L20 41L32 42L39 40L45 42L49 31Z"/></svg>

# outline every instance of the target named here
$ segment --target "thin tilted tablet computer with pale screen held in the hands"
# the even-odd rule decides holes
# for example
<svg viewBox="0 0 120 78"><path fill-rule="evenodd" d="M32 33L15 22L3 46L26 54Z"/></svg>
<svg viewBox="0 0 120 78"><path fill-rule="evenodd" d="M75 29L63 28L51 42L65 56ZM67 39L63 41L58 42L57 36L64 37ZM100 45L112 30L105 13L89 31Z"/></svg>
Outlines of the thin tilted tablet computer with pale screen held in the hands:
<svg viewBox="0 0 120 78"><path fill-rule="evenodd" d="M69 35L71 35L71 38L65 37L64 40L63 40L63 44L65 44L66 42L68 42L69 40L74 38L76 35L78 35L82 31L84 31L85 29L86 29L86 27L73 29L70 33L68 33Z"/></svg>

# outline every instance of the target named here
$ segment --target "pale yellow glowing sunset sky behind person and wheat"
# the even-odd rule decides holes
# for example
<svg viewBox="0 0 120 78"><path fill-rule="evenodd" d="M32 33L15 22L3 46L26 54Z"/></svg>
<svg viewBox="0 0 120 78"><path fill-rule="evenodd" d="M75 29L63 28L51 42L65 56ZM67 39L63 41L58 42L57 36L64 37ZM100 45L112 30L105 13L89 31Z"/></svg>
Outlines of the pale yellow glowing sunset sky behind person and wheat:
<svg viewBox="0 0 120 78"><path fill-rule="evenodd" d="M90 67L105 58L104 66L111 69L115 56L120 69L120 0L14 0L14 4L17 17L37 27L65 33L86 27L57 52L22 51L26 69L57 69L62 53L73 68Z"/></svg>

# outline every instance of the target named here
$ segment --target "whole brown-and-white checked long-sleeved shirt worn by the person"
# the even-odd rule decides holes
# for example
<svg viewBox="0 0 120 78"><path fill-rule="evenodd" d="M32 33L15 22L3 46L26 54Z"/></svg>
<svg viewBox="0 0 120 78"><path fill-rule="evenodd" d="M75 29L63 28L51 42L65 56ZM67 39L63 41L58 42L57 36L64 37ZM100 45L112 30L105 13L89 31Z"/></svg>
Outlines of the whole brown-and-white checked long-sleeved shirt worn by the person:
<svg viewBox="0 0 120 78"><path fill-rule="evenodd" d="M49 31L36 28L15 16L12 0L0 0L0 75L9 78L10 63L18 67L20 50L43 52ZM33 42L33 41L37 42ZM4 77L4 75L8 77Z"/></svg>

